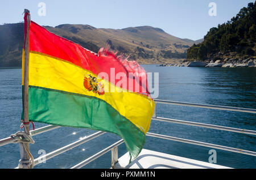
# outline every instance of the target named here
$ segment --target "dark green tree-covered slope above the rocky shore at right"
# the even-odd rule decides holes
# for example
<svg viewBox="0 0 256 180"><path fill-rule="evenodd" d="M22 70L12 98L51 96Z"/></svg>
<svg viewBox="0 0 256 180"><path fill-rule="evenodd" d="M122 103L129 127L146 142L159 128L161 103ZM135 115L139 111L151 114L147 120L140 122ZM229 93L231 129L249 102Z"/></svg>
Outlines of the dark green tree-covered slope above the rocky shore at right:
<svg viewBox="0 0 256 180"><path fill-rule="evenodd" d="M243 7L230 21L211 28L204 41L187 50L187 59L221 59L255 55L256 1Z"/></svg>

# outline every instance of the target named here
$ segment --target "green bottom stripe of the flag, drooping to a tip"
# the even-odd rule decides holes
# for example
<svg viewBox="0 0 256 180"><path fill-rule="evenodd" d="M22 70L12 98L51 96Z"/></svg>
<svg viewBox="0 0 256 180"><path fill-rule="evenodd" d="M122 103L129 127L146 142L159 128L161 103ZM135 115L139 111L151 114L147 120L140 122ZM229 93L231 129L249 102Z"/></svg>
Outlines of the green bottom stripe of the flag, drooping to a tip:
<svg viewBox="0 0 256 180"><path fill-rule="evenodd" d="M97 97L32 86L28 95L30 121L112 132L121 136L132 157L141 152L144 132L107 102Z"/></svg>

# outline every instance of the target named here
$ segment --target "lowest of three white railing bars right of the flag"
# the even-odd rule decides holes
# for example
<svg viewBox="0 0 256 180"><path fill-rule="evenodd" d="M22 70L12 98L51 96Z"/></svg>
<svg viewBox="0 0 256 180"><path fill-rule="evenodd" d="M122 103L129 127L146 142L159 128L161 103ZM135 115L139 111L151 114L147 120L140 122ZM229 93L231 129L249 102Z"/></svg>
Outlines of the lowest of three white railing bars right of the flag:
<svg viewBox="0 0 256 180"><path fill-rule="evenodd" d="M204 146L204 147L222 149L222 150L225 150L225 151L237 152L237 153L242 153L242 154L250 155L250 156L256 156L256 152L254 152L254 151L247 151L247 150L238 149L238 148L226 147L226 146L223 146L223 145L209 144L209 143L204 143L204 142L197 142L197 141L195 141L195 140L189 140L189 139L183 139L183 138L176 138L176 137L172 137L172 136L154 134L154 133L151 133L151 132L147 132L146 135L147 135L147 136L152 136L152 137L155 137L155 138L162 138L162 139L174 140L174 141L176 141L176 142L182 142L182 143L188 143L188 144L201 145L201 146Z"/></svg>

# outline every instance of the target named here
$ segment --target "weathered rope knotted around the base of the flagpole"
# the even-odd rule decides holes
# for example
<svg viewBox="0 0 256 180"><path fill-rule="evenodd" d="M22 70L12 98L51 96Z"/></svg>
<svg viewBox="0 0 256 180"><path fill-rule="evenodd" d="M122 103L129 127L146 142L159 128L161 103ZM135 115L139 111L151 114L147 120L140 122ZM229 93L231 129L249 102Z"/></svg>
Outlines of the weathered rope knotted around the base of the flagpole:
<svg viewBox="0 0 256 180"><path fill-rule="evenodd" d="M19 160L19 169L31 169L34 168L34 157L31 155L30 151L27 149L26 145L24 144L34 144L35 141L32 139L31 137L31 133L30 135L28 135L26 132L23 131L18 131L15 134L11 134L10 135L11 138L15 139L15 141L13 143L19 143L20 149L24 149L26 151L26 153L30 156L29 160ZM24 153L24 151L20 151L21 154Z"/></svg>

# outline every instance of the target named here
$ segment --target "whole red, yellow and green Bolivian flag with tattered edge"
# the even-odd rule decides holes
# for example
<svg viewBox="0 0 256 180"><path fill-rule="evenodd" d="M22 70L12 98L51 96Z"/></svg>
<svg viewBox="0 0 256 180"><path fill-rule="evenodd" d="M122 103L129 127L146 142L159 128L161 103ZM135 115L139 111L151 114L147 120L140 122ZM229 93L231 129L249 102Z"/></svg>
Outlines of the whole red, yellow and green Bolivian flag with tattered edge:
<svg viewBox="0 0 256 180"><path fill-rule="evenodd" d="M32 21L29 35L30 121L112 132L137 157L155 107L143 68L106 49L90 52Z"/></svg>

